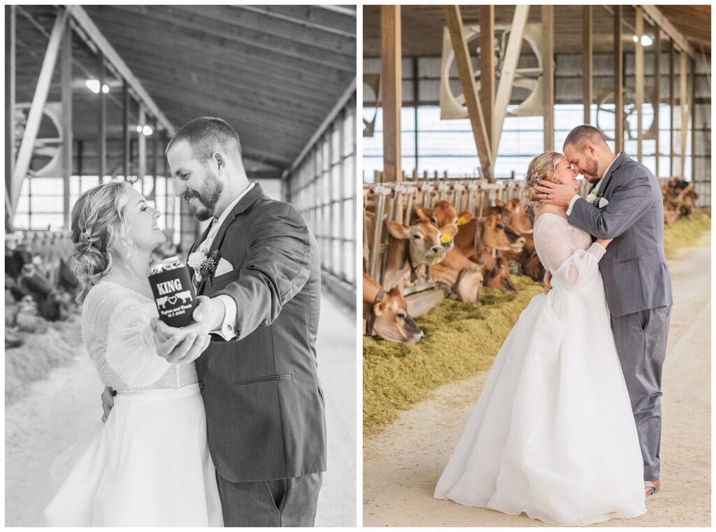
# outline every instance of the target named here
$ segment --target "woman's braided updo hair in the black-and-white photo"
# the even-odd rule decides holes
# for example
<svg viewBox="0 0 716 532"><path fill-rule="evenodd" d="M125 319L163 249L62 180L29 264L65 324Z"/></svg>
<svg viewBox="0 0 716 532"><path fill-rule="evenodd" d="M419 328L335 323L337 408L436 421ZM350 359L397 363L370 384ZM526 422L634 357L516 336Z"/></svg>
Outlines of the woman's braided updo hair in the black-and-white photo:
<svg viewBox="0 0 716 532"><path fill-rule="evenodd" d="M118 242L134 248L125 218L129 189L128 183L110 181L84 192L72 208L74 275L83 291L110 273Z"/></svg>

